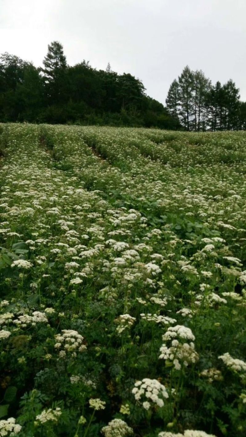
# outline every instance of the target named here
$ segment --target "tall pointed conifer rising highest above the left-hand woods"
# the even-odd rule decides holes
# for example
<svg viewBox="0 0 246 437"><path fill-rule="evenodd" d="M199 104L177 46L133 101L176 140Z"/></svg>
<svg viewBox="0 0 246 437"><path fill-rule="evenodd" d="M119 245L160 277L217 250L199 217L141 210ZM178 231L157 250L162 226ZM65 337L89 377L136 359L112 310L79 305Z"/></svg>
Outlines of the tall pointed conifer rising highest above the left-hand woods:
<svg viewBox="0 0 246 437"><path fill-rule="evenodd" d="M48 53L43 60L44 82L49 103L61 102L66 95L66 56L63 47L58 41L48 45Z"/></svg>

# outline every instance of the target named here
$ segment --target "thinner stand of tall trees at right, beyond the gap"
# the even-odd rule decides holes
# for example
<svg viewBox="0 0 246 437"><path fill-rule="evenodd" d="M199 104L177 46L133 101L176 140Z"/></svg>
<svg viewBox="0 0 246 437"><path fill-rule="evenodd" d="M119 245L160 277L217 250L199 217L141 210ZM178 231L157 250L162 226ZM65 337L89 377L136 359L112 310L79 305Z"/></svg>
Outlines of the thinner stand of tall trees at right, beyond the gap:
<svg viewBox="0 0 246 437"><path fill-rule="evenodd" d="M187 131L246 129L246 102L230 79L212 85L201 70L186 66L170 85L166 108Z"/></svg>

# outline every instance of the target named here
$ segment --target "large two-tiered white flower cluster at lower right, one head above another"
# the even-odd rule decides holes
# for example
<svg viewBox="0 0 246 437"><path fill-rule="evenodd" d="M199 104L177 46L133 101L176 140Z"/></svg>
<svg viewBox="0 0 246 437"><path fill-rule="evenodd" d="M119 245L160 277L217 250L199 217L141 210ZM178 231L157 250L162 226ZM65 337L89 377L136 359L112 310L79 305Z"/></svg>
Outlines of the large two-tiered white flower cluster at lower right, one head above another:
<svg viewBox="0 0 246 437"><path fill-rule="evenodd" d="M181 369L180 361L185 367L198 361L199 355L192 341L195 337L190 328L182 325L170 326L162 338L164 341L171 341L171 346L167 347L166 343L163 343L159 358L173 361L176 370ZM190 343L182 343L180 340L189 340Z"/></svg>

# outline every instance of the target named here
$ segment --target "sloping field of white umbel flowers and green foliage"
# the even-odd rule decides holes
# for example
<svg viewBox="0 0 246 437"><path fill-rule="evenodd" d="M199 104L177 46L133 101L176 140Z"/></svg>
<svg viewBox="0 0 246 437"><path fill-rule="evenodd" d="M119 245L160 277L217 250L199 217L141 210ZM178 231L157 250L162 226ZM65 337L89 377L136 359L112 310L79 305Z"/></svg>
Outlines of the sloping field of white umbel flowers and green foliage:
<svg viewBox="0 0 246 437"><path fill-rule="evenodd" d="M246 133L0 126L0 436L244 437Z"/></svg>

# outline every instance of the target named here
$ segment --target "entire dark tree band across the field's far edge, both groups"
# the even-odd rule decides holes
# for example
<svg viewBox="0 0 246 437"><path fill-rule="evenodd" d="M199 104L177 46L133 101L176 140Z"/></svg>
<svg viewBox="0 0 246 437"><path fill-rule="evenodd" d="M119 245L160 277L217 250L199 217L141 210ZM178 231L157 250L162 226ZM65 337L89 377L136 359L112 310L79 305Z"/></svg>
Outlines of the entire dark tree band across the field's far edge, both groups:
<svg viewBox="0 0 246 437"><path fill-rule="evenodd" d="M161 90L160 90L161 93ZM89 62L69 66L53 41L43 66L0 55L0 122L142 126L187 131L246 129L246 102L230 79L213 85L201 70L186 66L173 80L166 108L146 95L141 80Z"/></svg>

